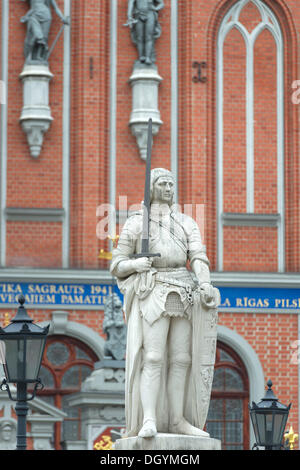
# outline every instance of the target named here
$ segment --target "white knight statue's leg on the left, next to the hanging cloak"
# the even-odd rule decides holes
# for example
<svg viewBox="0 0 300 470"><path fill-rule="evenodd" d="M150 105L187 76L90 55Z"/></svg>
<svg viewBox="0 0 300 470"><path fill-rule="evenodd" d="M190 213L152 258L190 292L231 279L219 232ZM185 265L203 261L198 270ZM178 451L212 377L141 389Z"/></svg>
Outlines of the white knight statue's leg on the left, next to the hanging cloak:
<svg viewBox="0 0 300 470"><path fill-rule="evenodd" d="M153 437L156 429L156 404L160 390L160 379L170 319L156 320L149 325L143 320L143 360L141 374L141 402L143 408L143 427L139 437Z"/></svg>

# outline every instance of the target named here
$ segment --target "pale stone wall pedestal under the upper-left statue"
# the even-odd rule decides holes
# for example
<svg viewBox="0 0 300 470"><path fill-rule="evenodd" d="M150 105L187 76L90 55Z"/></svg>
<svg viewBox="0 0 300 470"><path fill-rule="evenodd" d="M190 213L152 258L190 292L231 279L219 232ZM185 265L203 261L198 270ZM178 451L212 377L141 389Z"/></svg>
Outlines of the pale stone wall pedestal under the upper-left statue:
<svg viewBox="0 0 300 470"><path fill-rule="evenodd" d="M53 120L49 106L49 83L53 75L47 65L25 65L20 79L23 82L23 109L20 122L27 135L32 157L42 149L44 134Z"/></svg>

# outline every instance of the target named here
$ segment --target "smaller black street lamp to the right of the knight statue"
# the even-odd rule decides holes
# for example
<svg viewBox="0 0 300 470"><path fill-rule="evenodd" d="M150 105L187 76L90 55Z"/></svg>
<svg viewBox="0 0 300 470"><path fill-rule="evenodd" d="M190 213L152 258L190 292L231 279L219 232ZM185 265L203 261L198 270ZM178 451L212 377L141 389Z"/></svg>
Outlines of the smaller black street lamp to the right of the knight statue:
<svg viewBox="0 0 300 470"><path fill-rule="evenodd" d="M268 380L265 397L258 403L249 405L256 443L254 447L265 447L266 450L278 450L282 447L283 433L288 419L291 404L283 405L275 397L272 382Z"/></svg>

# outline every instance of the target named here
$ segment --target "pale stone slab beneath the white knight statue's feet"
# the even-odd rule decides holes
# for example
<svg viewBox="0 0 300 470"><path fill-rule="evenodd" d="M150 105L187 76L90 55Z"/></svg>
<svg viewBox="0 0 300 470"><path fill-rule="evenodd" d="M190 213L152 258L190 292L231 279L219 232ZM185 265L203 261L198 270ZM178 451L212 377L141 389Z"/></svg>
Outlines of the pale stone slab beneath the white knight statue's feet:
<svg viewBox="0 0 300 470"><path fill-rule="evenodd" d="M118 439L115 450L221 450L221 441L208 437L160 434L152 438Z"/></svg>

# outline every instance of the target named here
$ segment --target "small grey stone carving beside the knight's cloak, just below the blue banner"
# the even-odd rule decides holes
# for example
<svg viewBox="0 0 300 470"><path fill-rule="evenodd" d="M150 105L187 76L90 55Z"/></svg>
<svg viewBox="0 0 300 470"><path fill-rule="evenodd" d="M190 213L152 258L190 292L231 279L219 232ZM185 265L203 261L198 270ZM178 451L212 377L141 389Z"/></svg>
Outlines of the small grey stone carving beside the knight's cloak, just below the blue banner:
<svg viewBox="0 0 300 470"><path fill-rule="evenodd" d="M103 331L107 335L104 354L123 360L126 351L126 331L122 302L117 294L110 295L104 308Z"/></svg>

